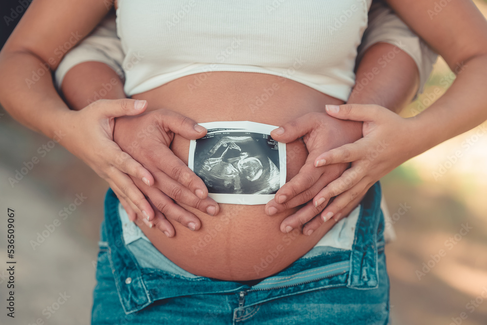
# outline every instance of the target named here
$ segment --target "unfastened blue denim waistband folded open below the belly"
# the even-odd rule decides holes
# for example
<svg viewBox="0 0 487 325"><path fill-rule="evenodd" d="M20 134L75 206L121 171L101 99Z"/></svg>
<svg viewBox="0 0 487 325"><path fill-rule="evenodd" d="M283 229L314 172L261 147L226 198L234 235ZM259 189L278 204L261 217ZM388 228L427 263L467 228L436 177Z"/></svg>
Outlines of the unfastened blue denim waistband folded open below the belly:
<svg viewBox="0 0 487 325"><path fill-rule="evenodd" d="M361 202L352 250L317 247L281 272L249 286L207 277L185 277L159 269L141 267L125 246L118 216L118 199L111 189L105 199L105 220L100 246L106 249L124 311L129 314L152 302L195 294L246 292L246 306L314 289L347 286L378 287L377 249L383 244L381 189L377 182ZM311 252L310 252L311 253ZM277 290L275 290L277 289Z"/></svg>

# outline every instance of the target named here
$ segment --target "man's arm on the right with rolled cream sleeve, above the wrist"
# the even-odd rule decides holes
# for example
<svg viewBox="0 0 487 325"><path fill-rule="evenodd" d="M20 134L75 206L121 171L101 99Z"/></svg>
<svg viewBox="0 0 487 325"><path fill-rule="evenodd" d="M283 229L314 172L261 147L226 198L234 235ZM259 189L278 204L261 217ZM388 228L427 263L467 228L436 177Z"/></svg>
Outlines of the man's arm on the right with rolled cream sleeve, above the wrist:
<svg viewBox="0 0 487 325"><path fill-rule="evenodd" d="M356 85L348 103L375 103L398 113L411 102L411 94L423 91L437 56L387 4L374 0L358 48Z"/></svg>

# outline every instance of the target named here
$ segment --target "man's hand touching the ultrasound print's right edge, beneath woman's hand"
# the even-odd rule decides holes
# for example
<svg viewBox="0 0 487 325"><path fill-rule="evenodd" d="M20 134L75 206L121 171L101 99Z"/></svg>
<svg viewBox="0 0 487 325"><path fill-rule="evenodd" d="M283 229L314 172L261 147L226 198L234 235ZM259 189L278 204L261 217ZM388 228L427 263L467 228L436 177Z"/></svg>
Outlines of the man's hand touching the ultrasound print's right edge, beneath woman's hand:
<svg viewBox="0 0 487 325"><path fill-rule="evenodd" d="M290 209L307 203L295 214L285 218L281 223L281 231L288 233L293 229L302 229L303 234L311 235L312 230L318 228L323 220L316 218L325 207L326 202L315 205L310 201L329 182L336 180L348 167L348 163L337 163L322 167L316 167L317 157L325 151L343 144L356 141L362 135L361 123L354 121L340 121L326 113L308 113L295 121L284 124L273 130L273 139L289 143L303 137L309 152L305 164L300 172L292 180L284 184L276 193L274 199L265 206L267 215L272 216L277 212ZM309 226L313 227L310 228ZM311 230L311 233L310 233Z"/></svg>

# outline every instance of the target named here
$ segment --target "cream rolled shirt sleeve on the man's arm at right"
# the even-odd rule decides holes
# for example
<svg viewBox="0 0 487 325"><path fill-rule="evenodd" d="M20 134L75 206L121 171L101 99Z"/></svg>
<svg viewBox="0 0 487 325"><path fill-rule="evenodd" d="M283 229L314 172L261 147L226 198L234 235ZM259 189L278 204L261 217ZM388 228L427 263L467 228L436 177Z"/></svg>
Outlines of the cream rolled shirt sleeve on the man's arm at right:
<svg viewBox="0 0 487 325"><path fill-rule="evenodd" d="M372 3L369 11L369 25L358 48L357 62L365 51L376 43L390 43L409 54L419 71L420 84L418 93L428 80L437 54L421 39L387 5L381 1Z"/></svg>

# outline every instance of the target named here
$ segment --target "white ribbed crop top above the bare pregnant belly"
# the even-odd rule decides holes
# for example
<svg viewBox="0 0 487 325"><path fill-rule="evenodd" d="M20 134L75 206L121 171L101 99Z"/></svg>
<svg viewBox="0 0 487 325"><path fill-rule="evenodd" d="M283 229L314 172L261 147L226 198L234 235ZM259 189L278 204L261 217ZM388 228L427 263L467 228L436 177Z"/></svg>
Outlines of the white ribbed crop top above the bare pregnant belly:
<svg viewBox="0 0 487 325"><path fill-rule="evenodd" d="M131 96L202 72L280 75L346 101L372 0L119 0Z"/></svg>

